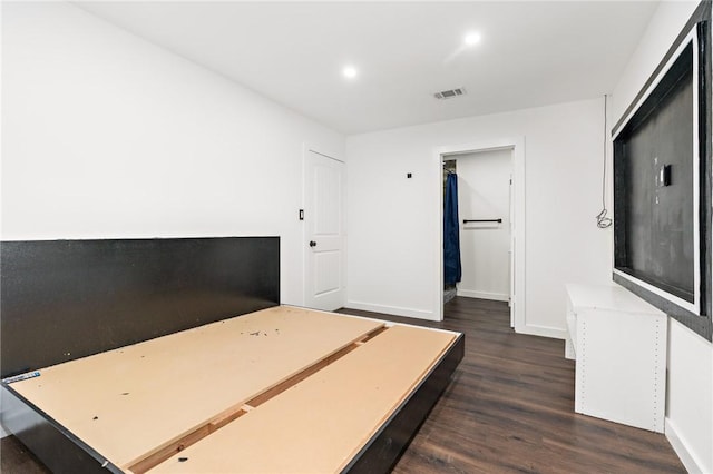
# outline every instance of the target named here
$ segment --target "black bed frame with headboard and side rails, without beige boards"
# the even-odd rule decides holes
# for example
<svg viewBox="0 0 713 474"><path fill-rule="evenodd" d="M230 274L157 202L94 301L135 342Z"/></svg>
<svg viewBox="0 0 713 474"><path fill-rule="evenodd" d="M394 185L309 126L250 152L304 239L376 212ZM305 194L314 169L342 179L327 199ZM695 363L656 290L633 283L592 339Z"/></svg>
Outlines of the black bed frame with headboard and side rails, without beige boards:
<svg viewBox="0 0 713 474"><path fill-rule="evenodd" d="M1 247L1 377L206 324L228 325L228 318L280 302L276 237L3 241ZM176 319L176 315L180 317ZM330 361L313 367L314 372L377 334L379 330L354 339L353 347L332 353ZM393 467L463 357L463 336L452 334L452 343L427 373L421 373L420 382L336 470L374 473ZM37 340L47 344L38 345ZM314 372L297 373L296 378L256 393L252 399L240 399L257 406ZM177 457L177 452L205 437L203 432L185 432L178 444L162 447L157 455L150 454L153 458L127 464L126 458L100 453L106 446L80 438L84 428L68 425L62 416L25 396L10 379L6 382L0 383L0 422L53 472L141 473L169 456ZM68 399L77 398L71 395ZM243 406L236 406L240 409L235 413L218 411L221 417L209 421L207 434L213 428L229 429L231 422L244 414Z"/></svg>

